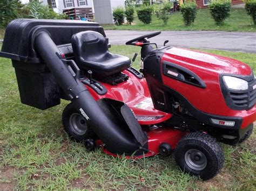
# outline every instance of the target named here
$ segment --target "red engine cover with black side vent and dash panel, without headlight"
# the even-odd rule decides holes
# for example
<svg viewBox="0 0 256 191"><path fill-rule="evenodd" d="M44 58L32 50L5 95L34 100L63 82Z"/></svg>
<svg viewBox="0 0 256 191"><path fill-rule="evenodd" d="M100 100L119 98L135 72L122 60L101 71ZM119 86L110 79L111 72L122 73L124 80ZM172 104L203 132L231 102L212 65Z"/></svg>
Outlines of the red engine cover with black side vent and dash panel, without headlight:
<svg viewBox="0 0 256 191"><path fill-rule="evenodd" d="M251 114L255 116L256 99L253 96L248 108L234 109L227 104L227 95L223 91L226 88L221 84L223 75L245 76L250 85L249 94L255 91L252 89L255 83L252 69L238 60L189 49L164 47L146 56L144 75L154 107L160 111L171 112L173 100L170 95L175 94L180 100L186 100L187 109L194 117L204 114L238 118ZM196 112L200 112L200 115ZM204 122L201 118L198 120ZM242 122L243 127L247 125L247 122Z"/></svg>

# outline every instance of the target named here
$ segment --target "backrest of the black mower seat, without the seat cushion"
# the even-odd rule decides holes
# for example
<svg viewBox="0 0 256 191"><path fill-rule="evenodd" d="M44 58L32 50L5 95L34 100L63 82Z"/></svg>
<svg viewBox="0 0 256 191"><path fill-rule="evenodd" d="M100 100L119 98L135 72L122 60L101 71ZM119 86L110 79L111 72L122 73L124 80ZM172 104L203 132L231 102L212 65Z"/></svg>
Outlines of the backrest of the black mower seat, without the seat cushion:
<svg viewBox="0 0 256 191"><path fill-rule="evenodd" d="M83 31L72 36L73 53L78 62L94 60L109 53L104 36L95 31Z"/></svg>

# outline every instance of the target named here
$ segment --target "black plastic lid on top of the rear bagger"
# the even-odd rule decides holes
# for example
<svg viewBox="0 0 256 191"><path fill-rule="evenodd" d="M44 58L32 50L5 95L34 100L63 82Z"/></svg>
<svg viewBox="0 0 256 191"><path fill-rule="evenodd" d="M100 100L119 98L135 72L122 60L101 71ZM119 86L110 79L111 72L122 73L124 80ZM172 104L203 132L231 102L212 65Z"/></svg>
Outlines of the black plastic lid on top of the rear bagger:
<svg viewBox="0 0 256 191"><path fill-rule="evenodd" d="M46 31L54 43L66 45L72 52L71 37L81 31L96 31L106 37L103 27L98 23L82 20L56 19L15 19L6 27L1 57L23 62L41 62L35 51L36 34ZM71 48L71 49L70 49Z"/></svg>

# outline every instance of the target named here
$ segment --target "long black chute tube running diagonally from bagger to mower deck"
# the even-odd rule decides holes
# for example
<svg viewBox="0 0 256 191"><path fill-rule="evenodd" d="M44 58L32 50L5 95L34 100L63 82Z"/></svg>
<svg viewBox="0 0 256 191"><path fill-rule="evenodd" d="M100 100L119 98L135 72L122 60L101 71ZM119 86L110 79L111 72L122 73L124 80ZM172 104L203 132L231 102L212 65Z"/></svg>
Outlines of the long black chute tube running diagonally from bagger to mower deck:
<svg viewBox="0 0 256 191"><path fill-rule="evenodd" d="M73 77L63 60L58 56L59 49L49 33L41 31L35 39L36 51L55 76L59 86L66 94L72 95L71 102L92 126L93 131L103 141L107 150L117 154L132 154L139 150L140 144L132 133L122 130L113 123L93 99L82 83Z"/></svg>

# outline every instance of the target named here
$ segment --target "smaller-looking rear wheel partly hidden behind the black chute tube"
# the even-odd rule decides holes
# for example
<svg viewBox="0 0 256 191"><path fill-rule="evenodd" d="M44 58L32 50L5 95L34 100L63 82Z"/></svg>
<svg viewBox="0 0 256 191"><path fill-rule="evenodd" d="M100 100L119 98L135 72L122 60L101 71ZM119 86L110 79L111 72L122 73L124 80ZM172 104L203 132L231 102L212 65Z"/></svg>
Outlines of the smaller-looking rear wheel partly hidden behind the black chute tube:
<svg viewBox="0 0 256 191"><path fill-rule="evenodd" d="M64 130L76 142L83 142L85 139L95 137L84 117L72 103L65 107L62 114L62 123Z"/></svg>

